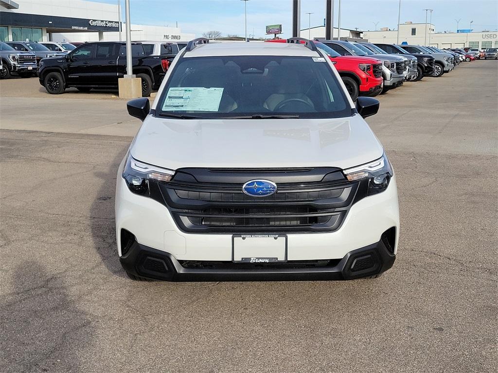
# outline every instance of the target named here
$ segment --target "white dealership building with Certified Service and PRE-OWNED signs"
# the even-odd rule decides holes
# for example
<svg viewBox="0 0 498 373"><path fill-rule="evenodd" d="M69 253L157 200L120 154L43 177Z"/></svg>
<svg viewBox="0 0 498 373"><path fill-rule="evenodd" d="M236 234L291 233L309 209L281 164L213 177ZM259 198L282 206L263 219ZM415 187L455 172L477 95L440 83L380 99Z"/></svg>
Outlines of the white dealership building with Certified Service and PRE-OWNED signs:
<svg viewBox="0 0 498 373"><path fill-rule="evenodd" d="M124 40L124 28L117 3L0 0L0 41ZM186 41L195 37L179 27L131 24L131 30L132 40Z"/></svg>

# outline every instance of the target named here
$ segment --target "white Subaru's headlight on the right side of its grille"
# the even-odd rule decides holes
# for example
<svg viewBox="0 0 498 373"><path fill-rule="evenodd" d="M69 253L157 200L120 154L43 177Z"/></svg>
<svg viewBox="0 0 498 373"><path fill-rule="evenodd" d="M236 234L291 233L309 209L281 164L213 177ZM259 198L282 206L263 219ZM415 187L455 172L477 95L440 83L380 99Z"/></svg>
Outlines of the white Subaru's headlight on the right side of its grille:
<svg viewBox="0 0 498 373"><path fill-rule="evenodd" d="M387 189L393 175L391 164L385 153L375 161L346 169L343 172L350 182L368 179L367 195L377 194Z"/></svg>

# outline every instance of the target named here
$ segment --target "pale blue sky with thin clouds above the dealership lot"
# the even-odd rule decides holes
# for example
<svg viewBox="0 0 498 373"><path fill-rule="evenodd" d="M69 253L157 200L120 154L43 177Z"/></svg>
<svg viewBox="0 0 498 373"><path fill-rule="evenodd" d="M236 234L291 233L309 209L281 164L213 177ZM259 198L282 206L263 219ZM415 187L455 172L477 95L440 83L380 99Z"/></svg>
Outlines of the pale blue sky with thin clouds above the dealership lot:
<svg viewBox="0 0 498 373"><path fill-rule="evenodd" d="M118 0L94 0L117 3ZM124 0L122 1L124 19ZM183 32L193 32L201 36L203 32L216 30L223 36L236 34L244 36L244 1L241 0L130 0L131 23L178 26ZM308 27L308 14L311 26L323 24L325 0L301 0L301 28ZM335 0L335 23L337 27L339 0ZM381 27L396 28L398 0L342 0L341 27L360 30L373 30L378 22ZM458 28L472 28L475 31L498 28L497 0L401 0L401 20L414 23L425 22L425 11L432 8L432 23L438 31L453 31L456 19L461 21ZM263 36L265 25L282 24L282 36L291 32L291 0L249 0L248 34Z"/></svg>

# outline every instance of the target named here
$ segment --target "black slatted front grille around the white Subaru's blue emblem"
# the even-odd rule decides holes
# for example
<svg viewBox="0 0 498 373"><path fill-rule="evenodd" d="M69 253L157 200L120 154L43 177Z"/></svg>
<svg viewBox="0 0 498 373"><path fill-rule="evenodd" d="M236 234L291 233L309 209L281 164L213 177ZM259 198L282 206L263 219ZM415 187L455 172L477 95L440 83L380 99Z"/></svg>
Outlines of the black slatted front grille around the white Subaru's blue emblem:
<svg viewBox="0 0 498 373"><path fill-rule="evenodd" d="M307 171L285 176L261 171L256 172L260 179L274 181L277 192L252 197L243 193L242 186L254 179L253 171L232 172L240 183L232 182L230 173L220 182L222 171L215 172L216 183L209 183L196 179L201 169L183 170L170 183L149 186L151 197L165 204L178 227L189 233L330 232L339 228L354 200L366 190L358 182L348 182L337 169L323 168L314 180L303 177Z"/></svg>

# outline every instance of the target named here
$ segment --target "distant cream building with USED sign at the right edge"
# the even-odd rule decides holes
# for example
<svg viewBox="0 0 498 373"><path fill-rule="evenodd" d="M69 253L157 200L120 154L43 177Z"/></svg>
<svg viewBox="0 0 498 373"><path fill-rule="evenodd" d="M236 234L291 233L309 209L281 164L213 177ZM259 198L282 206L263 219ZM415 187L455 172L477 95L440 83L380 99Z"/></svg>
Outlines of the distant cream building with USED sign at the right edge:
<svg viewBox="0 0 498 373"><path fill-rule="evenodd" d="M384 27L364 31L371 43L396 43L397 31ZM430 41L429 41L430 40ZM405 22L399 25L399 44L431 45L437 48L498 48L498 32L436 32L433 24Z"/></svg>

